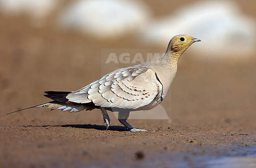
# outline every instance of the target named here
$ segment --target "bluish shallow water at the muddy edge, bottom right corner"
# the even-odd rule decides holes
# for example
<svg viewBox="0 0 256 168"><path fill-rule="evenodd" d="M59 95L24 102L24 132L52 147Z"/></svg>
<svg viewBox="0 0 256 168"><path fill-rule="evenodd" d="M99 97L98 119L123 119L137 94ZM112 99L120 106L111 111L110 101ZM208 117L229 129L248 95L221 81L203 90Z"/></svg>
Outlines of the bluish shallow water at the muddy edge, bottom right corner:
<svg viewBox="0 0 256 168"><path fill-rule="evenodd" d="M221 155L162 153L162 156L158 155L157 158L147 158L140 163L137 162L136 166L150 168L256 168L256 146L234 148Z"/></svg>

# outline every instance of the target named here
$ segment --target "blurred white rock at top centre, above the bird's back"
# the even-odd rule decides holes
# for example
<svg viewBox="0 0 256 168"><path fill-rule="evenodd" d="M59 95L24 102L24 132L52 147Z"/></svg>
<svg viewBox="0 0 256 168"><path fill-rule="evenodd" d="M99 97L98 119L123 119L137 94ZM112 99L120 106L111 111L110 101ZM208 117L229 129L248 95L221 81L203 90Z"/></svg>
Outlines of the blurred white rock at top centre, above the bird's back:
<svg viewBox="0 0 256 168"><path fill-rule="evenodd" d="M78 0L60 14L58 23L65 29L109 38L143 27L149 15L141 1Z"/></svg>

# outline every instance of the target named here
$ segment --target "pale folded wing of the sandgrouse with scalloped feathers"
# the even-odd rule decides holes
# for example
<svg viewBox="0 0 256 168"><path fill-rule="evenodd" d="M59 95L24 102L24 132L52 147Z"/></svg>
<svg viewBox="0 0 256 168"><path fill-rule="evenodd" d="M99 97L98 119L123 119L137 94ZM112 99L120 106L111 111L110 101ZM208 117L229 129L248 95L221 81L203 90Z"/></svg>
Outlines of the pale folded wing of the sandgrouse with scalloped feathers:
<svg viewBox="0 0 256 168"><path fill-rule="evenodd" d="M70 102L136 109L161 96L161 83L145 65L119 69L67 95Z"/></svg>

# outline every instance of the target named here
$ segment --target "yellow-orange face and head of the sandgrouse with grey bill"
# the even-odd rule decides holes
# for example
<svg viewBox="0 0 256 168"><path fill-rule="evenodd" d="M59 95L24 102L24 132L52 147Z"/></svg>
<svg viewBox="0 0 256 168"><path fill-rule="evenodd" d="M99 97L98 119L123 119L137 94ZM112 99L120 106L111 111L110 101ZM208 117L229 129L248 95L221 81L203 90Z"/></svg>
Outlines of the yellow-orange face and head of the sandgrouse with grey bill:
<svg viewBox="0 0 256 168"><path fill-rule="evenodd" d="M177 35L171 39L169 47L173 52L182 54L191 44L199 41L201 40L188 35Z"/></svg>

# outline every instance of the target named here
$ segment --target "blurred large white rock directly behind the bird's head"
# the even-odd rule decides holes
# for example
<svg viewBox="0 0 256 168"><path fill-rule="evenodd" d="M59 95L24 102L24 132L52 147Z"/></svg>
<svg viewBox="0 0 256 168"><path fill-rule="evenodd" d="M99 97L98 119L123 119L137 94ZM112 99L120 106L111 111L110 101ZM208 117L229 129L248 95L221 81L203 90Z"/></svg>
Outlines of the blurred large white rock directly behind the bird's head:
<svg viewBox="0 0 256 168"><path fill-rule="evenodd" d="M179 7L171 16L156 18L141 32L144 42L161 47L171 37L187 34L202 42L191 47L200 58L240 58L255 50L255 23L233 1L201 1ZM212 56L212 57L211 57Z"/></svg>

